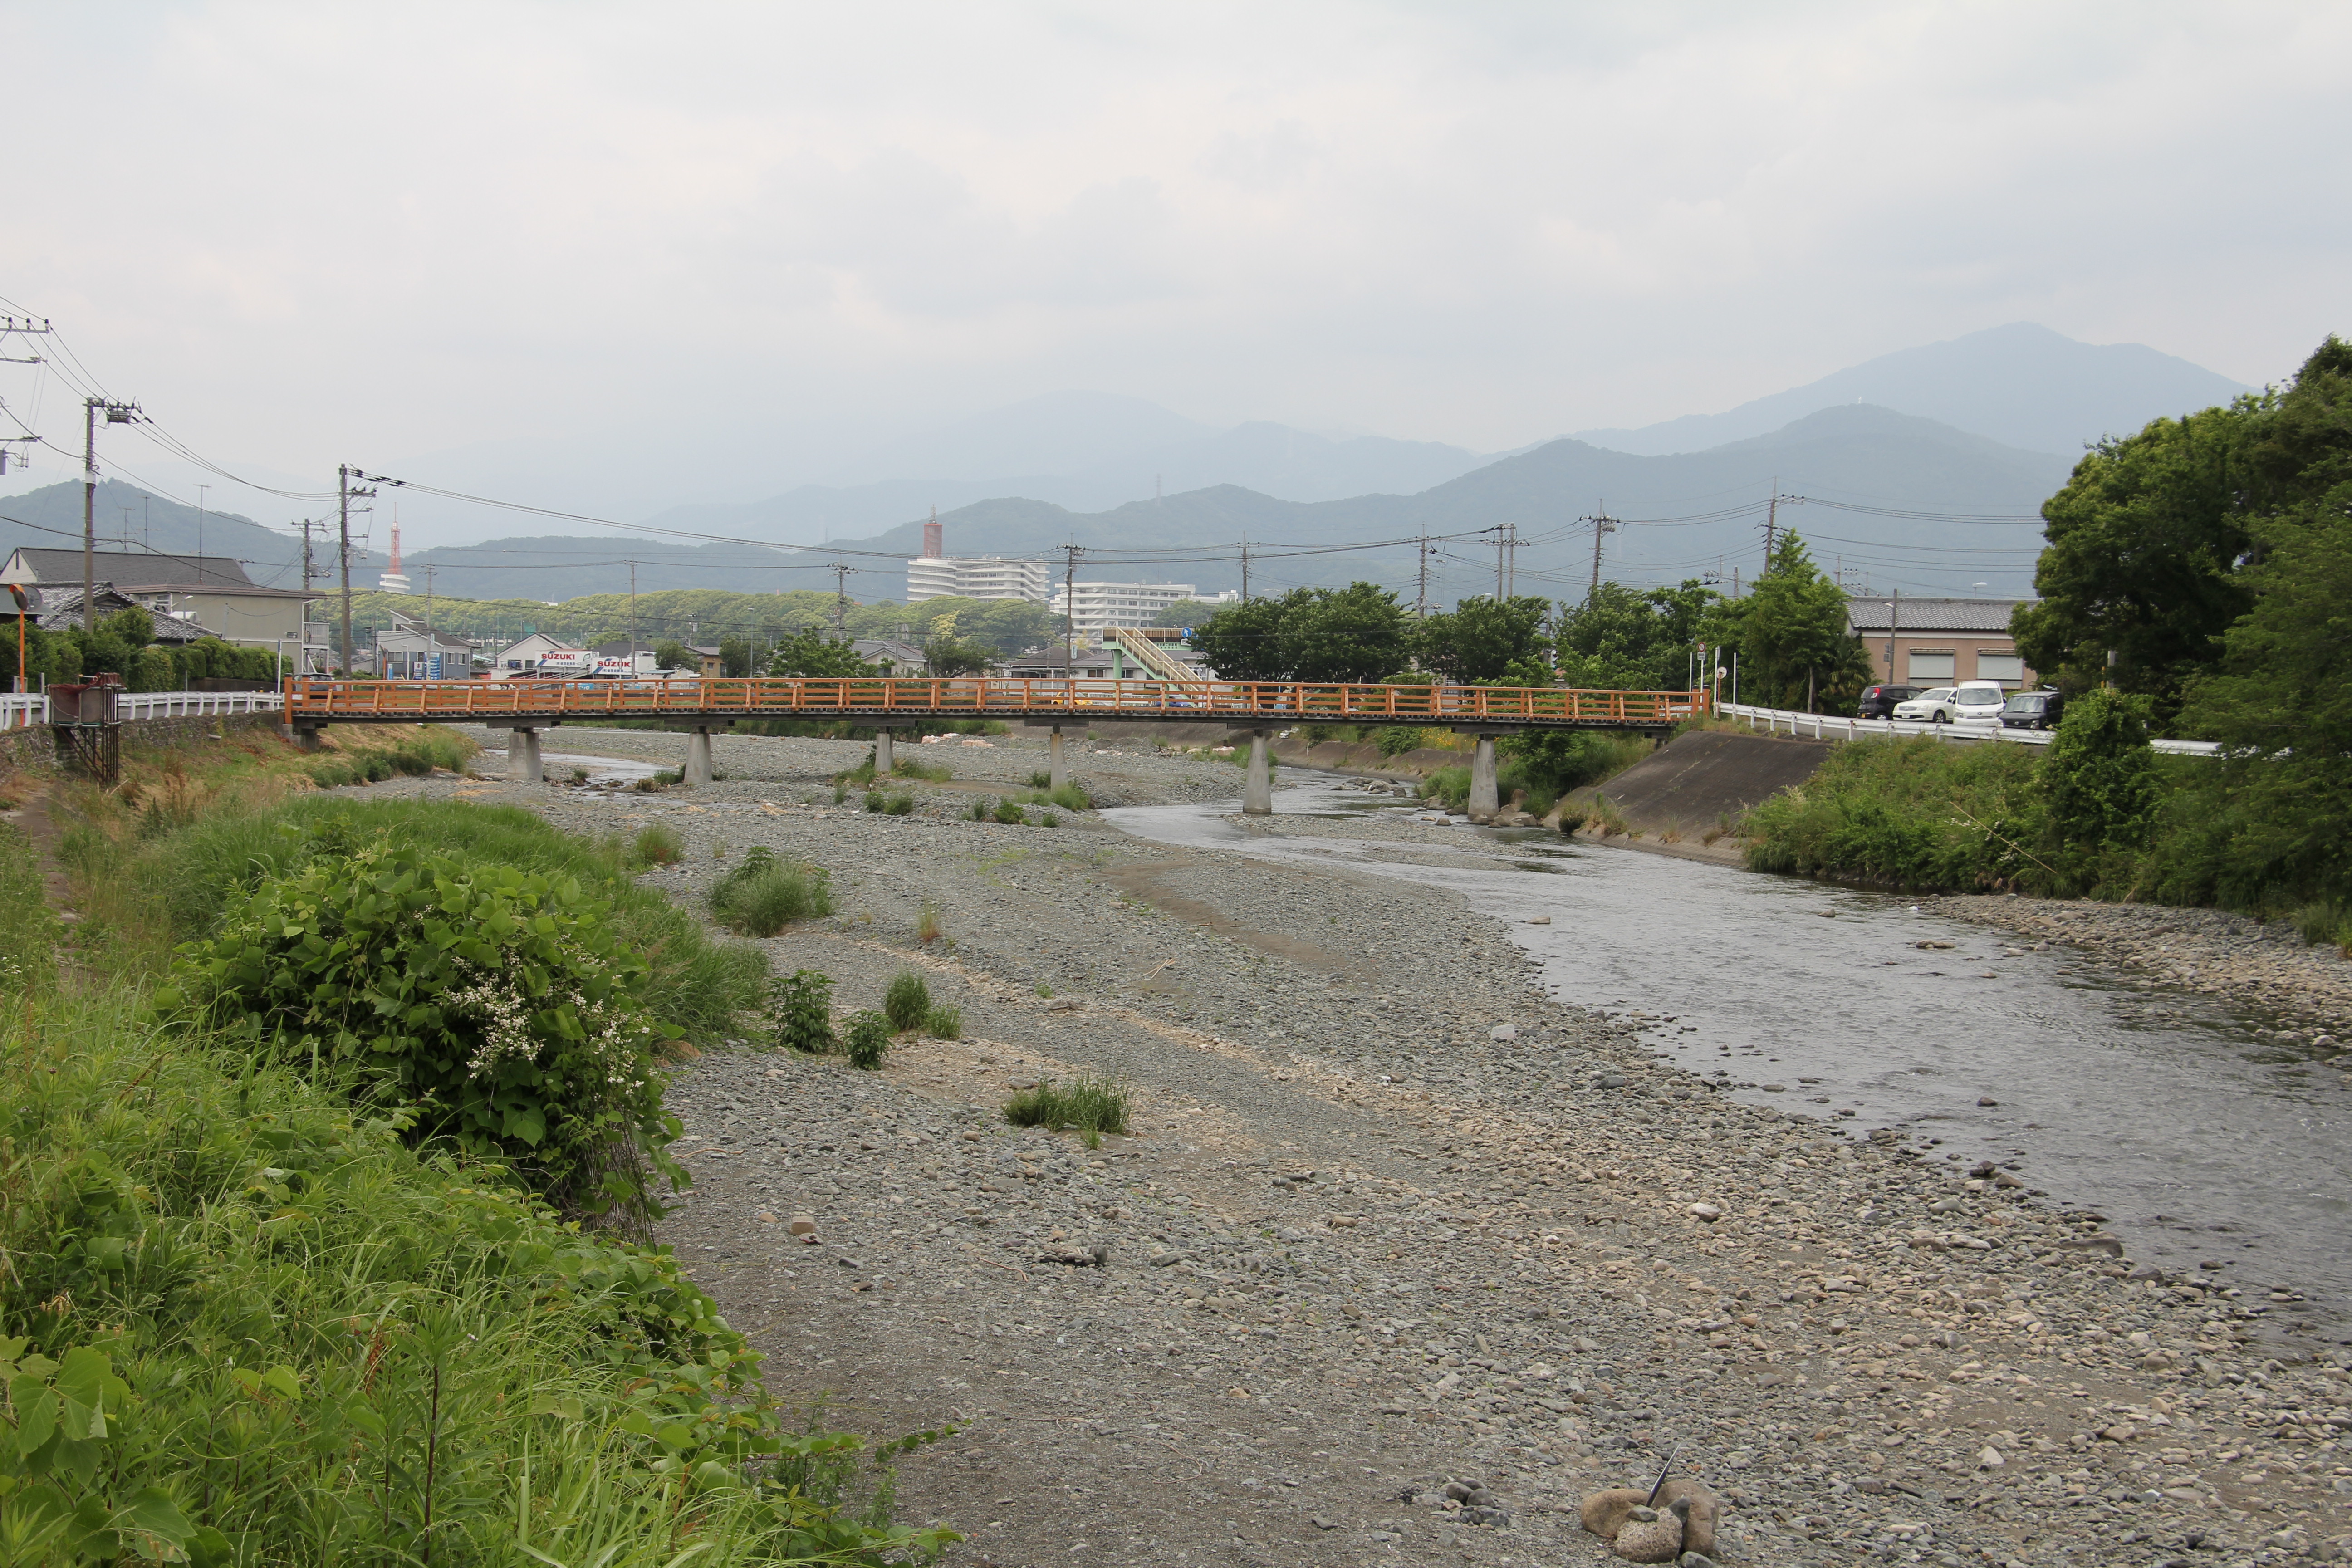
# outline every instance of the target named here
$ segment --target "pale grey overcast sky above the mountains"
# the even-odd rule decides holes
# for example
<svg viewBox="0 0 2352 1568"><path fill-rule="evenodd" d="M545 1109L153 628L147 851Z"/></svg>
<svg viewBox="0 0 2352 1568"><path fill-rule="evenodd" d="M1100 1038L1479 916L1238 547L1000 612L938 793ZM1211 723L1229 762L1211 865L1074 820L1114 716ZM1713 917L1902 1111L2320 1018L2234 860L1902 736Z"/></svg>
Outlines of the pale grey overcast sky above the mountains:
<svg viewBox="0 0 2352 1568"><path fill-rule="evenodd" d="M0 16L0 294L320 484L644 515L1056 388L1503 449L2011 320L2249 383L2352 331L2345 5Z"/></svg>

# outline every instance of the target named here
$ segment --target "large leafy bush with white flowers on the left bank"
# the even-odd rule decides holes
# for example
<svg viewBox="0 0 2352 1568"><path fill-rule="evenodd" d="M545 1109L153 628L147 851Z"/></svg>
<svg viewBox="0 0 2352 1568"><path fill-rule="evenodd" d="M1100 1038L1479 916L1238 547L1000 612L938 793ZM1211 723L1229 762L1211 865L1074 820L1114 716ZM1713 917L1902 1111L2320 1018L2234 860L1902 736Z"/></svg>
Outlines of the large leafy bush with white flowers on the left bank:
<svg viewBox="0 0 2352 1568"><path fill-rule="evenodd" d="M640 1159L682 1185L644 973L569 877L369 844L233 903L158 1006L602 1213L652 1204Z"/></svg>

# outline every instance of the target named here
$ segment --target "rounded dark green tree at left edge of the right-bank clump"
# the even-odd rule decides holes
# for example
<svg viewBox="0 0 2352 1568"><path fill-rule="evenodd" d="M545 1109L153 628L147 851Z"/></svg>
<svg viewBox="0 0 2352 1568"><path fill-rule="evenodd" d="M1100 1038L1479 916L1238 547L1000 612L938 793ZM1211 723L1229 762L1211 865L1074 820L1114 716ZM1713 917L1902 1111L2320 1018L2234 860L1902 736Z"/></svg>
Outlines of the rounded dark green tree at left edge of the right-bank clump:
<svg viewBox="0 0 2352 1568"><path fill-rule="evenodd" d="M2239 562L2253 545L2246 503L2263 484L2253 440L2272 397L2157 418L2091 449L2042 503L2049 545L2037 604L2009 630L2034 670L2089 686L2112 679L2154 698L2171 724L2183 689L2220 658L2220 637L2251 595Z"/></svg>

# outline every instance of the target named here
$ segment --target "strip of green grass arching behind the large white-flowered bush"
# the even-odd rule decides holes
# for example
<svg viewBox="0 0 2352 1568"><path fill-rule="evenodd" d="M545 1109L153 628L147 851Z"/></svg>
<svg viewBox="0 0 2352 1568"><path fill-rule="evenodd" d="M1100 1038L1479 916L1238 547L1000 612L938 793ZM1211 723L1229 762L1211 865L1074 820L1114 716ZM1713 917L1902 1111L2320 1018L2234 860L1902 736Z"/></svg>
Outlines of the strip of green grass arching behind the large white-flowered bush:
<svg viewBox="0 0 2352 1568"><path fill-rule="evenodd" d="M230 889L259 886L261 877L289 867L301 856L303 830L336 816L362 839L383 835L433 853L576 877L595 889L614 905L621 940L654 966L647 1006L682 1027L689 1041L722 1037L739 1009L760 1006L767 959L755 947L710 940L694 914L628 877L619 846L562 835L520 806L303 795L136 849L85 842L85 875L120 877L160 914L167 940L191 940L212 929Z"/></svg>

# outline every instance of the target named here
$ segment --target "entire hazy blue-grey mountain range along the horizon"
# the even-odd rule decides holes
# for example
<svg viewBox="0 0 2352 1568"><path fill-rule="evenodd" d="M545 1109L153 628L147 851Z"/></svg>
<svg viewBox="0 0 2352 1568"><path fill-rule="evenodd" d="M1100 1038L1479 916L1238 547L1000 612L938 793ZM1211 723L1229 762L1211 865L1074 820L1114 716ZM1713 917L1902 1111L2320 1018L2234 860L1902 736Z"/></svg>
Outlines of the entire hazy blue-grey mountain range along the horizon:
<svg viewBox="0 0 2352 1568"><path fill-rule="evenodd" d="M854 567L849 592L880 599L903 595L898 562L920 550L917 524L936 510L953 555L1077 545L1091 557L1084 576L1216 592L1242 585L1247 538L1254 592L1355 576L1418 592L1428 562L1430 597L1451 602L1494 590L1494 538L1479 529L1515 527L1522 592L1571 597L1592 576L1588 517L1623 522L1602 536L1604 574L1672 581L1752 574L1773 515L1858 585L2025 592L2034 512L2065 482L2072 454L2239 390L2145 346L2077 343L2020 322L1882 355L1722 414L1508 454L1265 421L1218 430L1141 397L1054 393L887 442L767 501L668 508L642 534L437 545L407 567L419 590L430 569L452 597L567 599L628 590L633 576L640 590L830 588L828 562L840 559ZM1773 510L1776 494L1795 501ZM132 541L122 548L186 552L202 529L209 552L247 559L256 581L299 581L299 538L245 517L200 515L118 482L101 487L96 515L101 536ZM1423 531L1435 538L1428 555ZM0 543L73 538L78 484L0 501ZM1367 541L1409 543L1334 550ZM329 581L325 543L315 559L318 581ZM372 583L381 564L381 552L353 550L355 583L362 574Z"/></svg>

